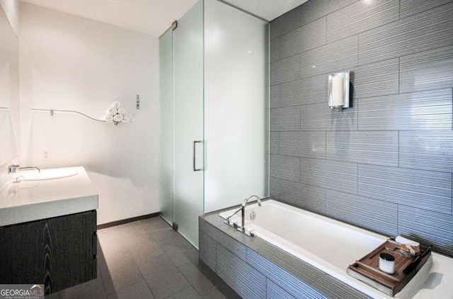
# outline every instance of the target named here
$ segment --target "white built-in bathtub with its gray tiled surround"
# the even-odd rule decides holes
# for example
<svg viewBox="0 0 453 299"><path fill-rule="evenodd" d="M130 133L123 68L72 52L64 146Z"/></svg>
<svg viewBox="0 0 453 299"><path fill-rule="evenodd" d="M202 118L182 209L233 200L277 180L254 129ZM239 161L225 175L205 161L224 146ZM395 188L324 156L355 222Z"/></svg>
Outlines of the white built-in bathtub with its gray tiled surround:
<svg viewBox="0 0 453 299"><path fill-rule="evenodd" d="M262 208L249 205L247 209L248 213L250 209L255 210L256 220L247 220L246 227L256 225L250 227L256 229L258 236L263 235L278 247L261 237L247 237L224 224L219 213L229 209L199 218L200 259L243 298L391 298L346 273L348 264L365 256L374 249L374 242L378 246L386 237L275 201L265 201ZM301 213L303 220L294 218L297 213ZM302 222L306 223L302 225ZM329 230L335 236L329 237L329 232L317 236L331 241L328 249L312 248L313 244L324 242L316 241L316 236L307 237L316 232L316 225L333 225ZM303 232L288 235L300 226L304 226ZM357 238L363 238L363 243L351 249L352 256L348 249L338 248L343 246L341 242L354 242ZM322 254L328 251L336 252L332 256ZM351 261L345 261L343 255ZM453 259L433 253L432 268L426 265L428 268L423 268L395 298L452 298L453 286L449 281L453 278ZM423 285L419 274L429 271Z"/></svg>

